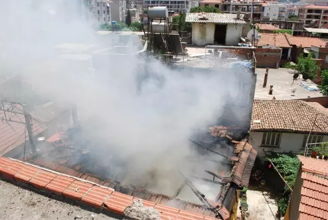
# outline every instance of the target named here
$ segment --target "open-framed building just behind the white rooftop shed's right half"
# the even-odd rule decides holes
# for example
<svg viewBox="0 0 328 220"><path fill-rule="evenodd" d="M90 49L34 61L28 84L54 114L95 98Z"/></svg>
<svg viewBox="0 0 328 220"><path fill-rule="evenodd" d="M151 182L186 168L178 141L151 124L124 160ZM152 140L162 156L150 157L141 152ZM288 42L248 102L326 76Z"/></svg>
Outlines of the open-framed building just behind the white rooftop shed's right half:
<svg viewBox="0 0 328 220"><path fill-rule="evenodd" d="M237 13L249 14L250 18L260 19L262 12L262 5L267 3L252 2L252 1L222 1L222 13Z"/></svg>

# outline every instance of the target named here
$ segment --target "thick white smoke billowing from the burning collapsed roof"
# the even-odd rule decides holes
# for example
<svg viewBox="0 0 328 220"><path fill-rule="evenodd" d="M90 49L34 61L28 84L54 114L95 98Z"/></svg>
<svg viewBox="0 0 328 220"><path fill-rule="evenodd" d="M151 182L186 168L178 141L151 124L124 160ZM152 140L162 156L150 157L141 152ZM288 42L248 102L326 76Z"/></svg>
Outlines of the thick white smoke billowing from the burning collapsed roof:
<svg viewBox="0 0 328 220"><path fill-rule="evenodd" d="M98 152L97 160L125 172L125 184L172 195L182 183L177 170L203 177L204 169L218 169L219 164L208 160L222 158L195 155L188 138L215 124L224 106L242 95L240 82L251 81L251 76L226 69L170 69L136 56L108 59L107 74L97 75L89 70L93 67L87 58L112 40L96 37L93 23L75 11L78 2L1 1L1 77L18 74L39 97L75 103L84 138L100 143L91 149ZM61 43L91 49L68 54L55 48ZM61 59L63 54L75 58ZM192 157L198 162L190 162Z"/></svg>

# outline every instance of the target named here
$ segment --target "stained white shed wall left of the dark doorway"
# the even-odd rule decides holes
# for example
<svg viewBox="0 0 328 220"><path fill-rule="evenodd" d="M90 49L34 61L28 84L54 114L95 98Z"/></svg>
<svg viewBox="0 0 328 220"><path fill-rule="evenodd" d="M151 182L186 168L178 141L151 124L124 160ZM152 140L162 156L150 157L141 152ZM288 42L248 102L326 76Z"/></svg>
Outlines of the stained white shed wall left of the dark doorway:
<svg viewBox="0 0 328 220"><path fill-rule="evenodd" d="M213 23L193 23L192 43L199 46L213 45L214 31Z"/></svg>

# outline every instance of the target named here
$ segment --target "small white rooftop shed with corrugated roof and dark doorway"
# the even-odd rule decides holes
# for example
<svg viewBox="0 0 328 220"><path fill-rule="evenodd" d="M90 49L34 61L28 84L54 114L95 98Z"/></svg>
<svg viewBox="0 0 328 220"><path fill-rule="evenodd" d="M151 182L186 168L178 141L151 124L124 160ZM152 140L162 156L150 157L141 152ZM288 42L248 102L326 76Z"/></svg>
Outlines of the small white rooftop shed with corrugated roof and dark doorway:
<svg viewBox="0 0 328 220"><path fill-rule="evenodd" d="M192 44L237 46L246 23L243 14L187 13L192 24Z"/></svg>

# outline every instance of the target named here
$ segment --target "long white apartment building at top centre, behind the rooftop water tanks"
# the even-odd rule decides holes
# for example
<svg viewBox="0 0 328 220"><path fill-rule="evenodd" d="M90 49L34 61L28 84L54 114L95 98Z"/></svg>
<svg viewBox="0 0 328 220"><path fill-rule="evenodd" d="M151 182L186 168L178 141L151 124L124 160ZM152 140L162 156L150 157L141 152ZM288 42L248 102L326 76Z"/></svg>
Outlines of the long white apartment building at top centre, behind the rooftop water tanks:
<svg viewBox="0 0 328 220"><path fill-rule="evenodd" d="M157 0L144 0L144 8L147 9L149 6L166 6L168 7L169 11L174 11L174 13L185 13L190 11L190 1L172 1L172 0L164 0L164 1L157 1Z"/></svg>

